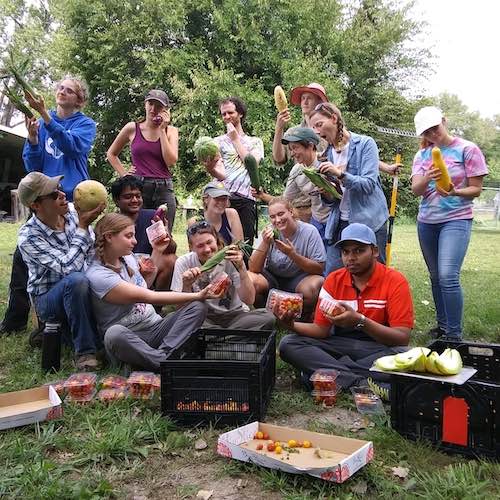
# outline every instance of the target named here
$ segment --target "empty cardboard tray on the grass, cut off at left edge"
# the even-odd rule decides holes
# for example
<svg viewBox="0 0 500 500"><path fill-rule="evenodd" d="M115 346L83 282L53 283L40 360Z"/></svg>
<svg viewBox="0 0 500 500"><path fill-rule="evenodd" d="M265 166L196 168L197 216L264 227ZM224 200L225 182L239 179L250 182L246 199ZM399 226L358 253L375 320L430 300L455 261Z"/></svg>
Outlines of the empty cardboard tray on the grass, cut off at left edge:
<svg viewBox="0 0 500 500"><path fill-rule="evenodd" d="M52 386L0 394L0 430L60 418L61 405Z"/></svg>

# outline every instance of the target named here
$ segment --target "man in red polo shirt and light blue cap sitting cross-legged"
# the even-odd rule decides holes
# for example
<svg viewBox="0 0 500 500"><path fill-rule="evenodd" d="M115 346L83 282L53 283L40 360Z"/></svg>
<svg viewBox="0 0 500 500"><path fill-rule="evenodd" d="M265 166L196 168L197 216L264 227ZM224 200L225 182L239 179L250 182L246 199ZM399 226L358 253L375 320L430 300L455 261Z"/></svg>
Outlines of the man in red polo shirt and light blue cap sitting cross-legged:
<svg viewBox="0 0 500 500"><path fill-rule="evenodd" d="M320 368L339 372L344 388L363 384L371 376L373 361L403 352L413 328L413 303L406 278L377 262L374 232L364 224L350 224L337 242L342 249L343 269L325 279L313 323L293 321L289 313L275 315L295 332L279 346L281 358L302 372L303 377ZM322 299L338 303L335 316L320 308Z"/></svg>

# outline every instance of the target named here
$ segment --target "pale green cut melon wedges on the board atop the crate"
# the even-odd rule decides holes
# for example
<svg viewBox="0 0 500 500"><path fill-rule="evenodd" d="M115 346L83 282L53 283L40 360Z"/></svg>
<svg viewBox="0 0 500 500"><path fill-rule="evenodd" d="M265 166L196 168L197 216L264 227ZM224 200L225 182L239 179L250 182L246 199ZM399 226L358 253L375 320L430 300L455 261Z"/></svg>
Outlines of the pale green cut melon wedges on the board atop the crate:
<svg viewBox="0 0 500 500"><path fill-rule="evenodd" d="M384 356L374 363L384 371L428 372L435 375L456 375L463 367L462 357L456 349L445 349L441 355L427 347L415 347L407 352Z"/></svg>

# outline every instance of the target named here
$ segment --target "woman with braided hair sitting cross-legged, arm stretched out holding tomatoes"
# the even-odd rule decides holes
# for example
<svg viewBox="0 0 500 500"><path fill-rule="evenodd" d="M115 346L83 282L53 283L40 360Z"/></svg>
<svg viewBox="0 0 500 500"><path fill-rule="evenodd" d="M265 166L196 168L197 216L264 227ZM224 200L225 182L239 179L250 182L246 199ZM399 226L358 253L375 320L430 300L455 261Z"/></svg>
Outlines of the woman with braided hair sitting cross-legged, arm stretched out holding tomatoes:
<svg viewBox="0 0 500 500"><path fill-rule="evenodd" d="M159 371L160 363L193 335L207 314L205 299L218 298L209 287L196 293L156 292L154 262L165 251L169 237L153 245L149 273L140 272L132 250L135 227L122 214L107 214L95 227L96 256L87 270L97 325L113 362ZM162 318L154 305L188 304Z"/></svg>

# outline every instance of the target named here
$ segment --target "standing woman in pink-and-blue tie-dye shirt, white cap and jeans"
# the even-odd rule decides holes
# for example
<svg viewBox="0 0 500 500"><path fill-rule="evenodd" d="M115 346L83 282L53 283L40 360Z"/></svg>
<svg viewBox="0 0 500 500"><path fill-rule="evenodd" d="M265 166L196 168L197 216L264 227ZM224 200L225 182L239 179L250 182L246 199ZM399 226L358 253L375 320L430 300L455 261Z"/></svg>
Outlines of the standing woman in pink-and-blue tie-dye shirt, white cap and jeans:
<svg viewBox="0 0 500 500"><path fill-rule="evenodd" d="M412 190L422 196L417 217L418 238L429 269L436 305L437 326L429 333L449 340L462 337L463 295L460 269L472 228L472 200L481 194L488 169L481 150L472 142L450 135L440 109L422 108L415 115L423 144L415 155ZM441 172L432 162L439 147L448 167L451 189L436 185Z"/></svg>

